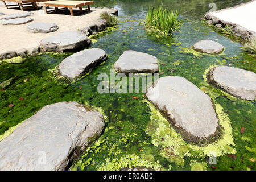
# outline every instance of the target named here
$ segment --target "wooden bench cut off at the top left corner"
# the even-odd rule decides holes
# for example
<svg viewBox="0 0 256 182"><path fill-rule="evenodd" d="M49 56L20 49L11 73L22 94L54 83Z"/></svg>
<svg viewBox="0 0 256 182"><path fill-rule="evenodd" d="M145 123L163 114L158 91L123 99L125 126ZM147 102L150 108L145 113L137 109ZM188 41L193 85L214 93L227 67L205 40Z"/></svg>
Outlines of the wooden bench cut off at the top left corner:
<svg viewBox="0 0 256 182"><path fill-rule="evenodd" d="M16 5L7 5L6 1L7 2L15 2L17 4ZM7 9L9 9L9 7L19 6L22 11L24 11L25 9L30 9L31 7L38 9L38 5L36 5L36 2L42 2L42 1L48 1L48 0L2 0L3 4L5 5L5 7ZM26 5L26 6L24 6L24 5ZM32 6L27 6L27 5L32 5Z"/></svg>

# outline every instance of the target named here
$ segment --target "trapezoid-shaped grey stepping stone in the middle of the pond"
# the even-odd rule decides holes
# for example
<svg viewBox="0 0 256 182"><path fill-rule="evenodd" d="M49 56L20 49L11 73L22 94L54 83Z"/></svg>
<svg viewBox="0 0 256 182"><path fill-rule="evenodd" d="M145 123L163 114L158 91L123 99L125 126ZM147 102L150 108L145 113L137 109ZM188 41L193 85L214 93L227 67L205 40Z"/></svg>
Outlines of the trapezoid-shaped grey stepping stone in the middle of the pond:
<svg viewBox="0 0 256 182"><path fill-rule="evenodd" d="M137 51L125 51L114 64L118 73L155 73L159 71L155 56Z"/></svg>

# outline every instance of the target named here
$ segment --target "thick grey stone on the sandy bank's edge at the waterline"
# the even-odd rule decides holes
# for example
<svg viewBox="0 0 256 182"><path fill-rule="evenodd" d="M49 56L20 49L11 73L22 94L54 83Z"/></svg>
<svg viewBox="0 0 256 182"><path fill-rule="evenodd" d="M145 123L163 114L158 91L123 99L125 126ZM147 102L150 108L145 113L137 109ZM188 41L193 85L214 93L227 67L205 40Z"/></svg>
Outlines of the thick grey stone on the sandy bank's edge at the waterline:
<svg viewBox="0 0 256 182"><path fill-rule="evenodd" d="M79 31L61 32L44 38L40 42L40 48L44 51L72 51L82 49L90 44L90 39Z"/></svg>

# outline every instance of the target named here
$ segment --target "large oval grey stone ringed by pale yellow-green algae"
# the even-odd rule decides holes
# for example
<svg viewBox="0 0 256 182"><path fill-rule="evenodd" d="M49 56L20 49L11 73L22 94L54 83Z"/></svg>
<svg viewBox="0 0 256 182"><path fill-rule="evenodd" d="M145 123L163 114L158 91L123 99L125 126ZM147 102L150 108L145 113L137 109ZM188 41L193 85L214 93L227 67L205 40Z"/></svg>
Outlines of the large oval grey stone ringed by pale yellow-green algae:
<svg viewBox="0 0 256 182"><path fill-rule="evenodd" d="M185 78L161 77L147 88L146 97L185 131L185 137L201 139L216 132L218 119L211 98Z"/></svg>

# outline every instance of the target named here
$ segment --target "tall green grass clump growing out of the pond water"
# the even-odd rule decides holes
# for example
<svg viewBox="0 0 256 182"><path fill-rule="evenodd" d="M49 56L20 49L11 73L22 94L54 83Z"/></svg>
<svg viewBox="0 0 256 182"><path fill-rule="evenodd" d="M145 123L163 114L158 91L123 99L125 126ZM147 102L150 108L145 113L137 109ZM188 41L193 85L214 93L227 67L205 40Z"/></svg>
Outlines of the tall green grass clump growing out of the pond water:
<svg viewBox="0 0 256 182"><path fill-rule="evenodd" d="M178 19L179 12L163 9L162 6L152 7L146 15L146 27L163 35L170 35L182 26Z"/></svg>

